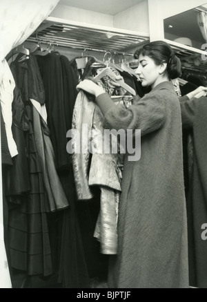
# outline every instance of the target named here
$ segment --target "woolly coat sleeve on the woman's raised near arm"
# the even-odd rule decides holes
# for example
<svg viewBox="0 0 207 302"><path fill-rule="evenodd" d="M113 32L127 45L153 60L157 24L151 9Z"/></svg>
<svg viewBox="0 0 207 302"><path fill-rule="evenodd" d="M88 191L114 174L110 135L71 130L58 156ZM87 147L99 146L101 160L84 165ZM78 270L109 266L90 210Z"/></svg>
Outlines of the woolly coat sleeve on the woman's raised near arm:
<svg viewBox="0 0 207 302"><path fill-rule="evenodd" d="M99 96L97 104L105 117L106 129L140 129L141 135L146 135L160 129L166 120L164 93L146 95L132 106L126 108L123 104L115 106L109 95ZM103 106L103 108L102 108ZM102 110L103 109L103 110Z"/></svg>

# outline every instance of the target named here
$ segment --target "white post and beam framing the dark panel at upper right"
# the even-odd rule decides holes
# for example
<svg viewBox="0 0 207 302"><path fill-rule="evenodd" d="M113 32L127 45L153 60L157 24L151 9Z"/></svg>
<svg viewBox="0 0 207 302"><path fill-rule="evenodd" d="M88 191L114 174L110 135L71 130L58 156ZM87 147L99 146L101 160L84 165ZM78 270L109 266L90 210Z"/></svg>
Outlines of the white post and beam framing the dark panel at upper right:
<svg viewBox="0 0 207 302"><path fill-rule="evenodd" d="M206 3L205 0L148 0L150 40L164 39L163 19Z"/></svg>

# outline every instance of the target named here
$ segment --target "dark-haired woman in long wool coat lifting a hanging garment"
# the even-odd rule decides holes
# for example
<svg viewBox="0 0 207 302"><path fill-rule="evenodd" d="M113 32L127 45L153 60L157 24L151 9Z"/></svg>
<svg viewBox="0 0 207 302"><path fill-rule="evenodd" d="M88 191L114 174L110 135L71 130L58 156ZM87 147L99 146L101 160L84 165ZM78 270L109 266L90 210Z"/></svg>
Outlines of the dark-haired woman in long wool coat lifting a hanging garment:
<svg viewBox="0 0 207 302"><path fill-rule="evenodd" d="M108 287L188 287L186 202L182 162L181 111L170 79L181 64L168 44L155 41L137 50L137 75L151 91L132 106L115 106L89 79L77 88L96 97L106 129L141 129L141 158L125 156L119 203L116 256Z"/></svg>

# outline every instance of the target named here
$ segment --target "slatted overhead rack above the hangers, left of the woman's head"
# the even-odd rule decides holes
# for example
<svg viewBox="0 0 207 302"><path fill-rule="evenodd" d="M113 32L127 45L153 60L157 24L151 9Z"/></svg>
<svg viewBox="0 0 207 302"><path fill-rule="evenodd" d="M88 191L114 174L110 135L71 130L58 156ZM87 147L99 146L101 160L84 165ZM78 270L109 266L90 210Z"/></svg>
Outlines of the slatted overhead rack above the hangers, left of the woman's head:
<svg viewBox="0 0 207 302"><path fill-rule="evenodd" d="M119 52L149 41L149 34L48 17L27 41L50 41L75 49Z"/></svg>

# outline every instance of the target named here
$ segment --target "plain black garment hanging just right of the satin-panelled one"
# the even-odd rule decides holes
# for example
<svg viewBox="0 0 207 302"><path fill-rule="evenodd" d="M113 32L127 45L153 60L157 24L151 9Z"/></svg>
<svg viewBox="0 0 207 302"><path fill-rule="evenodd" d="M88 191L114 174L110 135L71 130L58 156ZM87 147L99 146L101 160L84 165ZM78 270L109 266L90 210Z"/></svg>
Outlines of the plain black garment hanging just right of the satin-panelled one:
<svg viewBox="0 0 207 302"><path fill-rule="evenodd" d="M52 147L55 152L55 167L59 171L60 169L70 167L69 155L66 152L66 133L70 129L67 129L66 126L67 113L64 106L63 75L60 55L50 53L44 57L37 56L37 62L46 93L48 127L50 129Z"/></svg>

